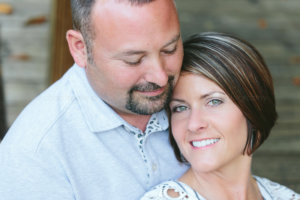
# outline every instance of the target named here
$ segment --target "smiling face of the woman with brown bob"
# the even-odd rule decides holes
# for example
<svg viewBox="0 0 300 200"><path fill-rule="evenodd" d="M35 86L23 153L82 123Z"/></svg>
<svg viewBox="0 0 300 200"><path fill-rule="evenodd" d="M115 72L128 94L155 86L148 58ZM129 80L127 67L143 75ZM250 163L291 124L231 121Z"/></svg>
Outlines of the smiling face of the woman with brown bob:
<svg viewBox="0 0 300 200"><path fill-rule="evenodd" d="M193 169L209 172L243 162L246 118L214 82L183 73L170 109L174 138Z"/></svg>

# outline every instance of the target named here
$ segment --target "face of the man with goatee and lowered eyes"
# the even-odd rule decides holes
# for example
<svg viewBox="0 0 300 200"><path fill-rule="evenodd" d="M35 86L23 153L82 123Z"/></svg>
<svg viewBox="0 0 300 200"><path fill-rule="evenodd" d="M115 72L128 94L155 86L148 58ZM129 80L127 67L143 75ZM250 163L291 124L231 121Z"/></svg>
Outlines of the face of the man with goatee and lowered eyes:
<svg viewBox="0 0 300 200"><path fill-rule="evenodd" d="M91 22L93 62L86 72L99 97L120 115L160 111L183 57L173 1L96 1Z"/></svg>

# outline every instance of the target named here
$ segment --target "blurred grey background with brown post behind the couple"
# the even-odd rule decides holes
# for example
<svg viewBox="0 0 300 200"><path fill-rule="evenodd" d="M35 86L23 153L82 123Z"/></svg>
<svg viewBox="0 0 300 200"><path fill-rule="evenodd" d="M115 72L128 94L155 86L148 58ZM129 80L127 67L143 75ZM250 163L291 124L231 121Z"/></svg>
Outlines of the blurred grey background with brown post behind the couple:
<svg viewBox="0 0 300 200"><path fill-rule="evenodd" d="M231 33L264 56L279 119L254 154L253 173L300 193L300 1L175 1L183 39L204 31ZM65 41L70 27L69 0L0 0L0 137L72 65Z"/></svg>

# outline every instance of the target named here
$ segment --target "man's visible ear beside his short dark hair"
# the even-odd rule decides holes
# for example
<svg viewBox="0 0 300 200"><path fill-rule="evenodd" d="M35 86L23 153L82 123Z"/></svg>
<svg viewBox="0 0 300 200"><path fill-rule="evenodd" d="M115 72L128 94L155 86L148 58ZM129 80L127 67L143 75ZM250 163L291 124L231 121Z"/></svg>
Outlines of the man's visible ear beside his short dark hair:
<svg viewBox="0 0 300 200"><path fill-rule="evenodd" d="M82 34L79 31L68 30L66 38L69 45L70 53L75 63L80 67L86 67L87 51Z"/></svg>

